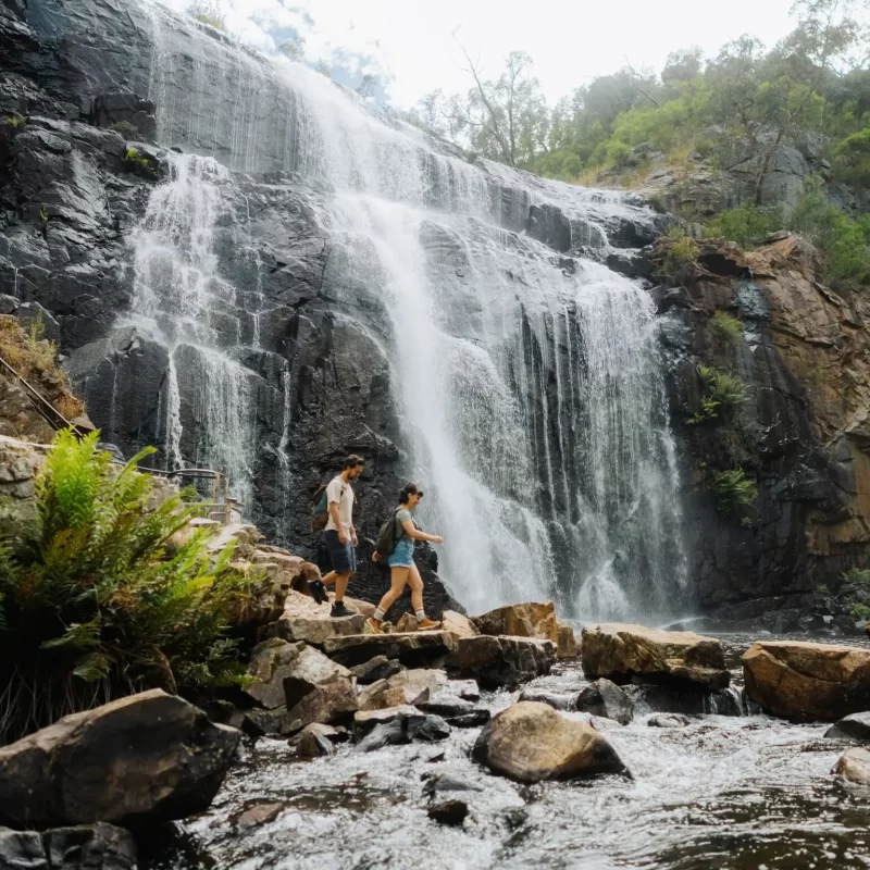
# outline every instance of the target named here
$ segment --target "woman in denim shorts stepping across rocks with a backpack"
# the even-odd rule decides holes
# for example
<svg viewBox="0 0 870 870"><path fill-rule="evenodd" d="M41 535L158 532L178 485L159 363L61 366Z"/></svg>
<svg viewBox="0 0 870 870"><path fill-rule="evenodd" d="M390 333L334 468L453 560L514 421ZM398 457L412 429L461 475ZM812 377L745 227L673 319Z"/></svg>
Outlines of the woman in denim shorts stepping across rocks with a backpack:
<svg viewBox="0 0 870 870"><path fill-rule="evenodd" d="M401 595L406 583L411 586L411 605L417 616L417 627L420 631L431 631L440 625L440 622L428 619L423 610L423 579L414 564L414 540L428 540L432 544L444 543L440 535L428 535L421 532L413 521L411 511L422 498L423 490L415 483L409 483L399 493L399 507L393 517L398 533L396 548L387 557L387 564L390 569L390 587L381 599L381 604L377 605L374 616L365 621L365 627L375 634L383 634L381 624L384 621L384 614ZM376 562L380 558L381 555L375 550L372 560Z"/></svg>

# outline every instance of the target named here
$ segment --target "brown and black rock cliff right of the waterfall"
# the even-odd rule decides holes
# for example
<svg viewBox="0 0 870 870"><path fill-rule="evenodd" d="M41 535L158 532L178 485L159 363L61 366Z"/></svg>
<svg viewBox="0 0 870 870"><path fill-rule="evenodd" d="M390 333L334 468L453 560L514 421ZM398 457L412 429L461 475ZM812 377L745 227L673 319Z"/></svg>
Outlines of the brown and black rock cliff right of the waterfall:
<svg viewBox="0 0 870 870"><path fill-rule="evenodd" d="M711 240L683 287L657 291L672 413L694 476L699 604L726 618L806 606L816 585L835 587L867 564L868 303L826 288L821 271L797 235L746 254ZM738 331L717 328L717 312L738 319ZM737 374L746 401L693 424L698 365ZM710 487L712 473L734 467L758 486L744 523L720 515Z"/></svg>

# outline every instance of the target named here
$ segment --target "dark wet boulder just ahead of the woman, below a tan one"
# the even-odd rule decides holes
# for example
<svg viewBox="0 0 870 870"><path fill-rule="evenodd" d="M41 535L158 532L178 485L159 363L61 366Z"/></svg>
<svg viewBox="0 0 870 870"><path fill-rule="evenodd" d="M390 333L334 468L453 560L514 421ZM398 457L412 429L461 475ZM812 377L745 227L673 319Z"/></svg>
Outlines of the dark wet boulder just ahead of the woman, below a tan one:
<svg viewBox="0 0 870 870"><path fill-rule="evenodd" d="M485 688L500 688L549 673L555 660L556 645L550 641L482 634L458 638L447 668Z"/></svg>

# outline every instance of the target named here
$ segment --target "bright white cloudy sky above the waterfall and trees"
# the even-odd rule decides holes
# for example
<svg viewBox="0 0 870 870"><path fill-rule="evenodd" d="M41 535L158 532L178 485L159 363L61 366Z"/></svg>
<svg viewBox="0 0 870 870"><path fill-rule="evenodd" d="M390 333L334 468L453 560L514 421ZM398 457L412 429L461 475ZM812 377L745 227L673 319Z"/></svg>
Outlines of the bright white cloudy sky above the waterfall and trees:
<svg viewBox="0 0 870 870"><path fill-rule="evenodd" d="M227 29L274 51L290 30L306 59L381 75L394 104L468 87L453 32L496 77L504 57L527 51L547 99L625 64L660 72L671 51L707 55L743 33L772 46L793 27L793 0L214 0ZM184 10L189 0L163 0Z"/></svg>

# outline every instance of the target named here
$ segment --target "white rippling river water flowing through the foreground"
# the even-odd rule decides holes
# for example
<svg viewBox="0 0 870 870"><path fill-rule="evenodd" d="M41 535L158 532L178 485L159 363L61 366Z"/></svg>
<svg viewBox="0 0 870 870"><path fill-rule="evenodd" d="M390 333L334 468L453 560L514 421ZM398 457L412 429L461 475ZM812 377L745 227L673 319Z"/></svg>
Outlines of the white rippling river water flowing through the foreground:
<svg viewBox="0 0 870 870"><path fill-rule="evenodd" d="M754 638L722 639L736 698L739 659ZM571 661L522 692L576 695L587 685ZM484 692L480 704L495 713L519 695ZM140 866L870 867L870 790L831 772L847 744L825 738L828 724L744 712L664 719L672 728L655 726L657 711L637 701L625 726L563 712L591 721L631 779L537 784L494 775L472 760L476 728L372 753L339 744L334 755L314 759L300 758L286 741L262 738L244 745L208 812L140 845ZM461 824L432 818L439 815L433 807L448 801L468 807Z"/></svg>

